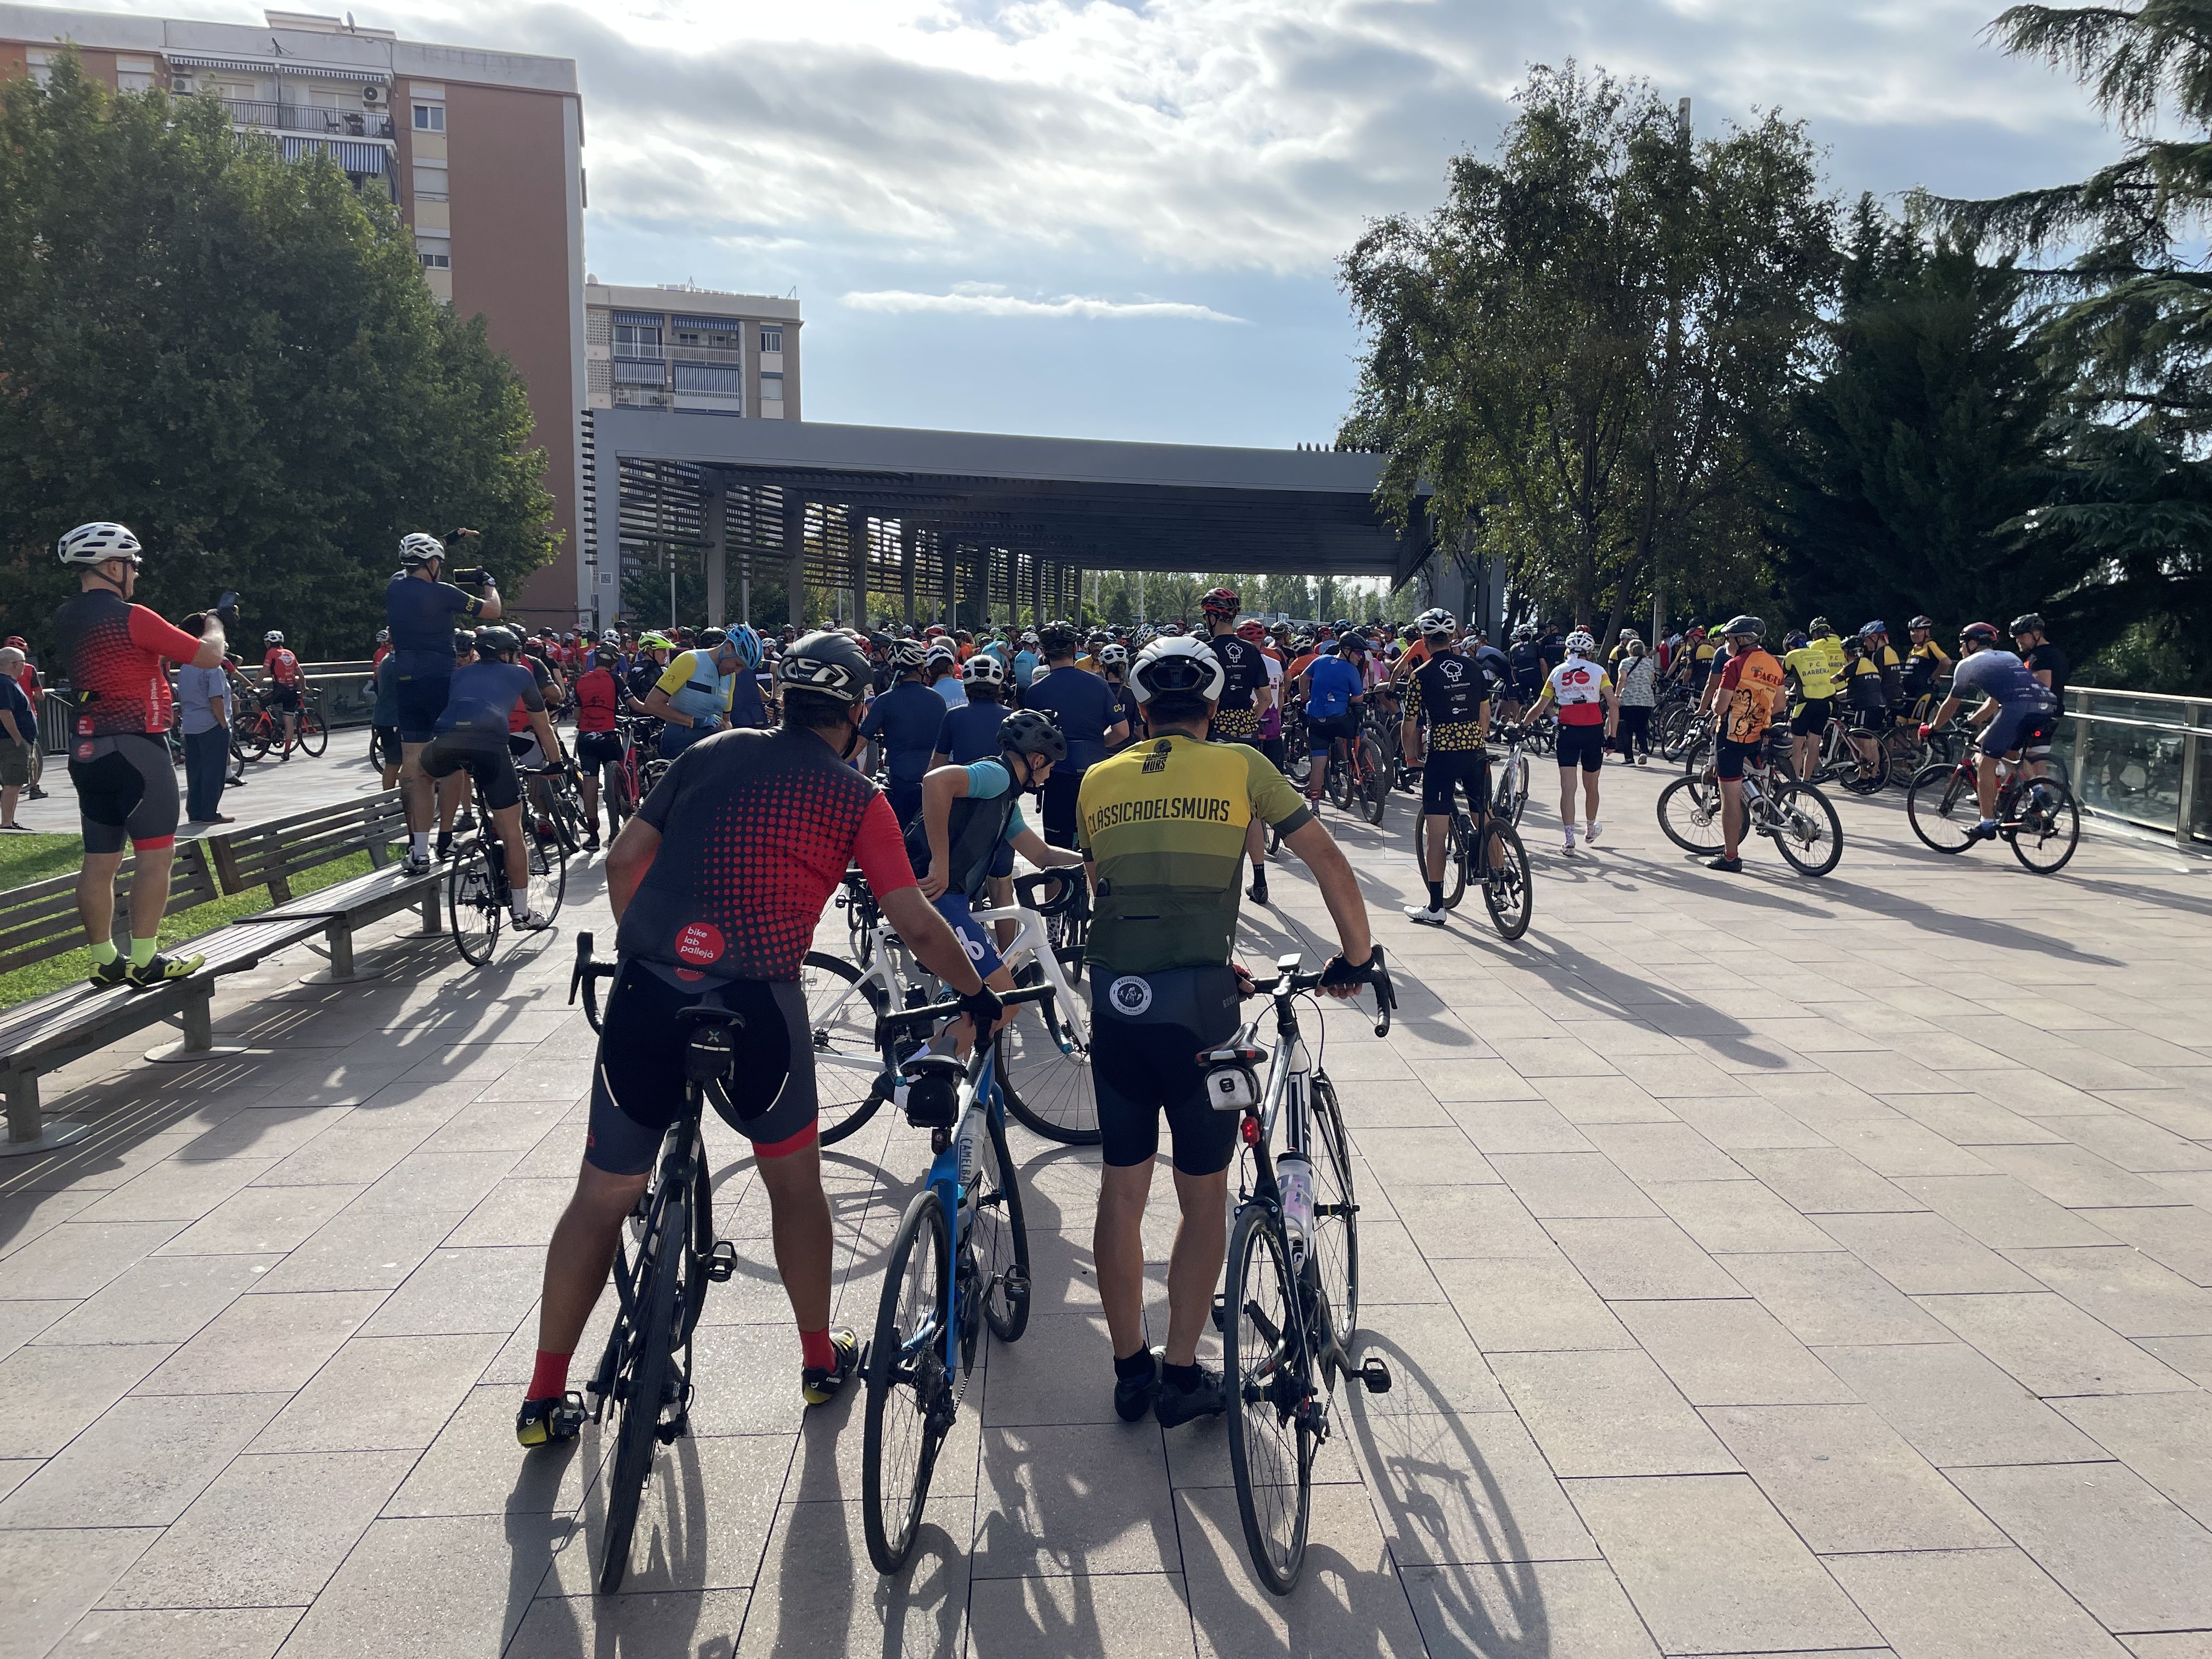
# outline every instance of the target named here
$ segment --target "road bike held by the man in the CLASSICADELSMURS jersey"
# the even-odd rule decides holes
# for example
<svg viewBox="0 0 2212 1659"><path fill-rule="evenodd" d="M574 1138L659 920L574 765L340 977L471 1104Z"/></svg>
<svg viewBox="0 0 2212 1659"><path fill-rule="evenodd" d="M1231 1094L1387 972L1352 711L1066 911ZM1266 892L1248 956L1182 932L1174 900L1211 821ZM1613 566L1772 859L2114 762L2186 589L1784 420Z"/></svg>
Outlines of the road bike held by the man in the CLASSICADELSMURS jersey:
<svg viewBox="0 0 2212 1659"><path fill-rule="evenodd" d="M1214 1108L1243 1119L1237 1212L1214 1301L1230 1478L1254 1573L1274 1595L1290 1595L1305 1566L1314 1458L1334 1431L1332 1394L1347 1378L1387 1394L1391 1374L1380 1358L1352 1358L1360 1312L1352 1141L1336 1088L1298 1031L1298 998L1316 991L1325 973L1301 971L1296 956L1274 967L1272 980L1252 982L1274 1002L1274 1051L1259 1046L1261 1022L1252 1020L1232 1042L1203 1051L1199 1064ZM1398 995L1380 947L1363 973L1383 1037ZM1276 1130L1281 1155L1272 1150Z"/></svg>

